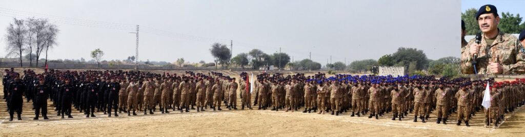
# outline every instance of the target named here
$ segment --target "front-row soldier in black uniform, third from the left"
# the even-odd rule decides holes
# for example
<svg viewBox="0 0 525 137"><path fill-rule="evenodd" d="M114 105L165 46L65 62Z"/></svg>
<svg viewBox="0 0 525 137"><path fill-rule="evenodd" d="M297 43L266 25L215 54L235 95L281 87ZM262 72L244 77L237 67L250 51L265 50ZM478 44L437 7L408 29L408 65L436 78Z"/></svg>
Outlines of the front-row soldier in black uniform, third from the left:
<svg viewBox="0 0 525 137"><path fill-rule="evenodd" d="M73 118L71 116L71 101L74 97L75 92L77 92L77 89L74 85L71 84L71 80L66 78L66 83L62 86L60 86L60 100L62 101L60 106L62 107L62 118L64 118L64 113L67 114L68 118Z"/></svg>

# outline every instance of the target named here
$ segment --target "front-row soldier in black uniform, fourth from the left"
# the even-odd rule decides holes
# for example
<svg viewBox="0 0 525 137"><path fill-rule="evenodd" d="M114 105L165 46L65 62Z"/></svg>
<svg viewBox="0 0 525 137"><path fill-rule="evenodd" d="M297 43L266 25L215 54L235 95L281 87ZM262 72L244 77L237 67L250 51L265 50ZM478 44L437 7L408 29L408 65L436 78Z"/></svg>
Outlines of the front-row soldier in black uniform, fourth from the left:
<svg viewBox="0 0 525 137"><path fill-rule="evenodd" d="M100 95L99 88L97 86L97 83L95 83L95 79L91 78L90 83L88 83L86 86L86 114L87 118L89 118L89 114L91 112L91 117L95 116L95 105L97 105L97 97ZM90 111L91 110L91 111Z"/></svg>

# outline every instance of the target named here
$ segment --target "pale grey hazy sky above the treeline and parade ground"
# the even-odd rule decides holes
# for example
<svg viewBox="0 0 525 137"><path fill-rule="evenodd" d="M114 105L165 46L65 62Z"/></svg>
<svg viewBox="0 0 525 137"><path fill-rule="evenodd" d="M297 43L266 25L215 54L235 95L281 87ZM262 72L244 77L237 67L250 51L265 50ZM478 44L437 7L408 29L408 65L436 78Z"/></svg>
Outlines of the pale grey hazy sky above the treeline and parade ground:
<svg viewBox="0 0 525 137"><path fill-rule="evenodd" d="M459 57L458 0L447 1L4 1L0 0L0 56L13 17L43 17L57 24L58 45L50 59L90 60L135 55L139 60L212 62L214 42L233 55L261 49L321 64L379 59L398 47L422 49L429 59ZM461 8L460 8L461 7ZM478 7L478 6L475 6ZM517 9L517 7L510 8ZM3 32L3 33L2 33ZM451 52L457 51L457 52Z"/></svg>

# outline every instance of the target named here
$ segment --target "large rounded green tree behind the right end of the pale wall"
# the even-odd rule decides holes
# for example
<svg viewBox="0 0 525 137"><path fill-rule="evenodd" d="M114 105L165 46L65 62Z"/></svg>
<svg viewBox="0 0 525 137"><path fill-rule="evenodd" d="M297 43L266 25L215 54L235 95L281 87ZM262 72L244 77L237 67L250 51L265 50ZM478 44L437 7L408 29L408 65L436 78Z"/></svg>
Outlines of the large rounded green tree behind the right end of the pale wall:
<svg viewBox="0 0 525 137"><path fill-rule="evenodd" d="M428 67L428 59L423 53L422 50L417 50L417 48L405 48L400 47L397 49L397 52L392 54L392 58L396 66L409 67L410 64L415 65L414 70L422 70ZM415 61L414 63L412 63ZM410 70L410 69L409 69ZM409 71L413 72L413 71Z"/></svg>

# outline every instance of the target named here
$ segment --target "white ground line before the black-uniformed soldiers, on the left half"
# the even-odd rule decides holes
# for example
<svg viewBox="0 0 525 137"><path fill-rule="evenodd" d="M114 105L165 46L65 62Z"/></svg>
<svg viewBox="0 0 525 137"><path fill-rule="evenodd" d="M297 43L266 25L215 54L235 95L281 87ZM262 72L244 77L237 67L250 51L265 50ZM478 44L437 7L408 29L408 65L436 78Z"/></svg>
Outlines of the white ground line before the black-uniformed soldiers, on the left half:
<svg viewBox="0 0 525 137"><path fill-rule="evenodd" d="M99 123L99 122L113 122L113 121L122 121L122 120L143 120L143 119L160 119L160 118L181 118L181 117L196 117L196 116L211 116L211 115L236 115L235 113L230 113L230 112L225 112L225 113L220 113L220 112L216 112L216 113L210 113L210 114L206 114L206 113L192 113L192 114L186 114L186 115L158 115L158 116L144 116L144 117L136 117L136 118L95 118L95 119L90 119L90 121L83 121L83 120L86 120L86 119L75 119L75 121L78 121L78 122L70 122L69 120L68 121L62 121L62 120L58 120L58 121L38 121L36 123L33 123L33 124L23 124L23 123L20 123L21 125L10 125L10 126L7 126L9 128L12 128L12 127L24 127L24 126L39 126L39 125L51 125L51 124L75 124L75 123ZM112 120L110 120L112 119ZM46 122L52 122L52 123L46 123Z"/></svg>

